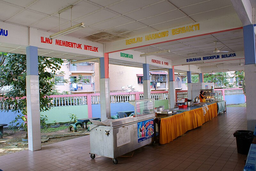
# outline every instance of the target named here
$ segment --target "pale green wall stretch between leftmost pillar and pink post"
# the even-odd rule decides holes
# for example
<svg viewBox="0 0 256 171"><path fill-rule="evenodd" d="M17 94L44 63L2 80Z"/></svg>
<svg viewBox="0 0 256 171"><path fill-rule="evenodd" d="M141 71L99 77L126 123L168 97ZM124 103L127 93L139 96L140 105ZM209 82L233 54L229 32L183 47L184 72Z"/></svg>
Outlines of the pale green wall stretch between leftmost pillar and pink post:
<svg viewBox="0 0 256 171"><path fill-rule="evenodd" d="M87 105L61 106L51 108L49 111L44 111L40 114L48 116L48 121L46 123L53 123L53 121L56 121L57 123L69 122L70 114L76 114L78 119L88 118L88 108Z"/></svg>

